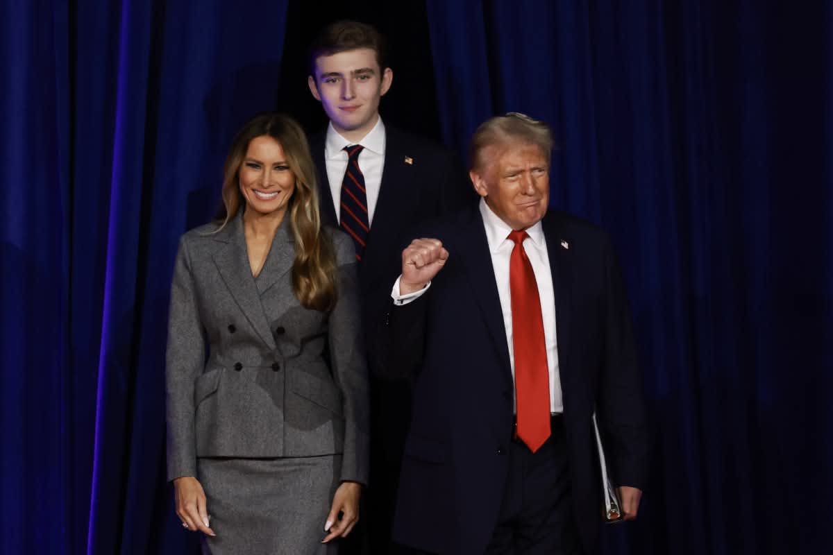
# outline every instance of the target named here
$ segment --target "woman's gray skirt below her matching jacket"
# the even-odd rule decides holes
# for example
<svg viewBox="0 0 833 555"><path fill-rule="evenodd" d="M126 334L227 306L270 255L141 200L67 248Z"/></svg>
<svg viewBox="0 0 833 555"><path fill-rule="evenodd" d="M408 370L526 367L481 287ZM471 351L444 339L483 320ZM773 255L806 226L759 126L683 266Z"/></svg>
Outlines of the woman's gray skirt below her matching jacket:
<svg viewBox="0 0 833 555"><path fill-rule="evenodd" d="M203 553L338 553L338 540L321 540L341 468L341 455L199 458L197 472L217 534L202 536Z"/></svg>

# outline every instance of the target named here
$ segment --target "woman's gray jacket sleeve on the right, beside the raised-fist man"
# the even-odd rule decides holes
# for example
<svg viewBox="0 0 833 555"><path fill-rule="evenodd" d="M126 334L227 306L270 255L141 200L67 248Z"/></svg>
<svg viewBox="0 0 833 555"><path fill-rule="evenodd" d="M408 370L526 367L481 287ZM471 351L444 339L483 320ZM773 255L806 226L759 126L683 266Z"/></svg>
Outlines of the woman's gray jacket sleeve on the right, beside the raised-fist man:
<svg viewBox="0 0 833 555"><path fill-rule="evenodd" d="M342 481L367 484L370 459L370 400L367 359L358 296L355 249L347 235L335 232L338 299L329 319L332 375L344 404Z"/></svg>

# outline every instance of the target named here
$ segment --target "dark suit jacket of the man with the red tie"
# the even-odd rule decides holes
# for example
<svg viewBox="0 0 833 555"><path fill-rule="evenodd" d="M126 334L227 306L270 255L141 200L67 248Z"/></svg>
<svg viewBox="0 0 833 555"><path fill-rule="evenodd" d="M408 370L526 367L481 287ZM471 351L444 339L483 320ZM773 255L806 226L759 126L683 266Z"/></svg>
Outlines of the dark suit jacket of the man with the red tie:
<svg viewBox="0 0 833 555"><path fill-rule="evenodd" d="M615 483L641 488L646 426L631 319L607 235L550 211L542 221L574 514L587 553L601 523L594 408ZM424 295L387 309L386 368L416 376L393 538L431 553L483 553L501 508L512 435L512 378L480 211L427 225L449 251Z"/></svg>

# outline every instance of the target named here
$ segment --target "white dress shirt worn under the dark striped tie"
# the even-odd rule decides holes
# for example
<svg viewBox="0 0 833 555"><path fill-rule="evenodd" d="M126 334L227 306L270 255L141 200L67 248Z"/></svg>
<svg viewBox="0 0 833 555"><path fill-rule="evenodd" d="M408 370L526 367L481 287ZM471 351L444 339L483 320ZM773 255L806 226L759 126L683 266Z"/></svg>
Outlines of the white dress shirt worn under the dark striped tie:
<svg viewBox="0 0 833 555"><path fill-rule="evenodd" d="M327 166L327 180L330 181L332 205L336 209L338 221L342 221L342 181L349 158L344 147L348 145L364 146L364 150L359 153L359 169L364 175L367 191L367 222L372 225L373 213L379 199L379 188L382 186L382 168L385 166L385 125L382 118L380 117L372 130L358 142L347 141L335 130L332 123L327 126L324 163Z"/></svg>

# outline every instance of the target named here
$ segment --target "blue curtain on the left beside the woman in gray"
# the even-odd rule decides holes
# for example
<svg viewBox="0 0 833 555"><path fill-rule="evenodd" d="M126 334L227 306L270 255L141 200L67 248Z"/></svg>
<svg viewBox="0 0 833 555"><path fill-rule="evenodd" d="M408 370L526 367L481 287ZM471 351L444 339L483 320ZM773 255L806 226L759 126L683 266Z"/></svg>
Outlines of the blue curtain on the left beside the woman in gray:
<svg viewBox="0 0 833 555"><path fill-rule="evenodd" d="M185 553L172 255L272 109L287 2L3 2L0 552Z"/></svg>

